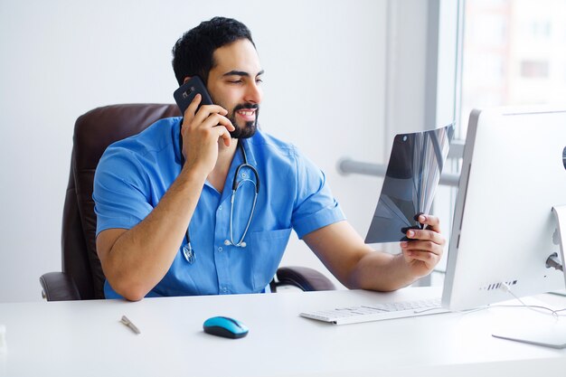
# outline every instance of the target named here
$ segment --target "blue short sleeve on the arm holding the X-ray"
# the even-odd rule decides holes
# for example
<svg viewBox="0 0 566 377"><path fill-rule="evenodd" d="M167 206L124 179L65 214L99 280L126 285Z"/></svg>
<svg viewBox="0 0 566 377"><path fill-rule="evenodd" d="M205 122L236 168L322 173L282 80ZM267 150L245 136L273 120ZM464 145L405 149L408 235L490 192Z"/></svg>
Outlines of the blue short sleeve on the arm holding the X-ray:
<svg viewBox="0 0 566 377"><path fill-rule="evenodd" d="M326 183L325 174L306 156L296 151L297 198L292 214L299 239L311 231L345 220L344 212Z"/></svg>

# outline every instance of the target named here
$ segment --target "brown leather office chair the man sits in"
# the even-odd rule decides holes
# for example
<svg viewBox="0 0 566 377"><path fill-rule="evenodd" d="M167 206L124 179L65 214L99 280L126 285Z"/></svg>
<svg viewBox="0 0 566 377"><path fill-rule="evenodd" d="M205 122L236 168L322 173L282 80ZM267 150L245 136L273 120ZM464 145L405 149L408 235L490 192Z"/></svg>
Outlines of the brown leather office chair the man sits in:
<svg viewBox="0 0 566 377"><path fill-rule="evenodd" d="M136 135L156 120L179 116L176 105L130 104L95 108L75 123L71 173L63 207L62 272L40 278L48 301L104 298L104 274L96 252L96 214L92 201L94 171L104 150L115 141ZM314 269L279 268L271 290L279 286L331 290L333 283Z"/></svg>

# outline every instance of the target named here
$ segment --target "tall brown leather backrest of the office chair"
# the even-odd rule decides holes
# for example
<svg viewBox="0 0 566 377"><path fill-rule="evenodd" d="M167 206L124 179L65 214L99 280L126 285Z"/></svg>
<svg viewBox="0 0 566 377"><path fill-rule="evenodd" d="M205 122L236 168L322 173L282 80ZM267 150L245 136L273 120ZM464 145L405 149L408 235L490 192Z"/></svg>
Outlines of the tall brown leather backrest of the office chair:
<svg viewBox="0 0 566 377"><path fill-rule="evenodd" d="M75 123L71 174L63 207L62 271L71 276L81 299L104 298L104 274L96 252L94 171L107 146L136 135L156 120L180 116L176 105L130 104L95 108Z"/></svg>

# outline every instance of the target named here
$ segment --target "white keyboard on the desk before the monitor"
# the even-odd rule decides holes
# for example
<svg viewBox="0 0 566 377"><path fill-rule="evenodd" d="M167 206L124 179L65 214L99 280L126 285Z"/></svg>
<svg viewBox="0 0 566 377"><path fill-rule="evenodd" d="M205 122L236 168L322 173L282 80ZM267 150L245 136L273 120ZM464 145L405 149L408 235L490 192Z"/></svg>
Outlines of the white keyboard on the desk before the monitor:
<svg viewBox="0 0 566 377"><path fill-rule="evenodd" d="M335 325L346 325L409 316L428 316L447 312L448 309L440 306L440 298L431 298L386 304L337 307L330 310L304 312L300 316L330 322Z"/></svg>

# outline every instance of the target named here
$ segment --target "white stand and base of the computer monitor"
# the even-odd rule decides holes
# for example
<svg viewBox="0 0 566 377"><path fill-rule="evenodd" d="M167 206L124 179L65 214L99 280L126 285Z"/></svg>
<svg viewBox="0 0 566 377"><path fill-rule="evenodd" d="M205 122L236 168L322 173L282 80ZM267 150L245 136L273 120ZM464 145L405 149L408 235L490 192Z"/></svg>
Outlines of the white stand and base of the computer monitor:
<svg viewBox="0 0 566 377"><path fill-rule="evenodd" d="M561 266L555 268L564 271L564 244L566 240L566 205L552 207L556 219L556 230L560 238ZM564 273L566 283L566 273ZM496 338L522 342L526 344L542 345L552 348L566 348L566 318L552 315L538 315L535 318L531 313L530 319L510 321L494 329L493 336ZM543 316L543 317L540 317Z"/></svg>

